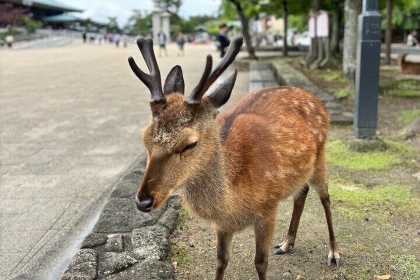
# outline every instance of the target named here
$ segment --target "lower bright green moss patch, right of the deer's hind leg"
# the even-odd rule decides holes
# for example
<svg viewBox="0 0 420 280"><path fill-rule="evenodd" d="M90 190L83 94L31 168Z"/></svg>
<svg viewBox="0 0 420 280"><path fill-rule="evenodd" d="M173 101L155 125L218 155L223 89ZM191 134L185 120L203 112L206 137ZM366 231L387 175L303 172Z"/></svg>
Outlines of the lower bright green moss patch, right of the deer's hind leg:
<svg viewBox="0 0 420 280"><path fill-rule="evenodd" d="M330 178L329 186L331 197L347 205L339 207L338 211L351 218L363 219L368 215L378 222L385 222L394 214L420 214L420 208L417 207L420 198L405 186L367 189L337 176Z"/></svg>

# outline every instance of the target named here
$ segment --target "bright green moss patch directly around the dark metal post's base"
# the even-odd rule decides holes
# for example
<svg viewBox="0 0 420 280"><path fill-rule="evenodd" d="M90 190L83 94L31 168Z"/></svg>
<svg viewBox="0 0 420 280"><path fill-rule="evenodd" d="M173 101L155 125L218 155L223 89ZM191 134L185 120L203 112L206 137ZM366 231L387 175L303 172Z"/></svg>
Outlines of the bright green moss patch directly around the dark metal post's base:
<svg viewBox="0 0 420 280"><path fill-rule="evenodd" d="M402 163L391 151L367 153L349 151L341 140L329 142L326 151L329 164L353 170L378 170Z"/></svg>

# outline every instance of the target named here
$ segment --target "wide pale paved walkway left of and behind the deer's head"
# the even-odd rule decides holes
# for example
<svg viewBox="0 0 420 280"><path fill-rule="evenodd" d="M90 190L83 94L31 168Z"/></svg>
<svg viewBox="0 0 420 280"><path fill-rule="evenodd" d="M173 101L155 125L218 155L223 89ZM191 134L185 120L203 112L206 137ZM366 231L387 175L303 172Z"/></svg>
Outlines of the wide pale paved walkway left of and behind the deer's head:
<svg viewBox="0 0 420 280"><path fill-rule="evenodd" d="M187 91L206 54L217 57L208 46L187 46L185 57L175 46L168 52L158 58L162 80L180 64ZM144 153L150 94L130 55L145 69L134 45L0 51L0 279L59 276L116 181ZM242 73L235 92L248 89Z"/></svg>

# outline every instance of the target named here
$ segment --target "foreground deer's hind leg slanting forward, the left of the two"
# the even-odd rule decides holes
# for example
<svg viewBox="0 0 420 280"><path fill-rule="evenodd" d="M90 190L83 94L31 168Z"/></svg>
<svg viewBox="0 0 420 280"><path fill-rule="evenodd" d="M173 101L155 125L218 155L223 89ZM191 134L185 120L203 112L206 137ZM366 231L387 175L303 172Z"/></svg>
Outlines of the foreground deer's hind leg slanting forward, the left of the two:
<svg viewBox="0 0 420 280"><path fill-rule="evenodd" d="M305 184L302 191L293 198L293 214L292 219L290 220L289 231L287 232L286 239L283 243L274 246L274 248L277 248L277 250L274 251L275 255L282 255L295 246L296 233L298 232L299 222L308 191L309 186L308 184Z"/></svg>

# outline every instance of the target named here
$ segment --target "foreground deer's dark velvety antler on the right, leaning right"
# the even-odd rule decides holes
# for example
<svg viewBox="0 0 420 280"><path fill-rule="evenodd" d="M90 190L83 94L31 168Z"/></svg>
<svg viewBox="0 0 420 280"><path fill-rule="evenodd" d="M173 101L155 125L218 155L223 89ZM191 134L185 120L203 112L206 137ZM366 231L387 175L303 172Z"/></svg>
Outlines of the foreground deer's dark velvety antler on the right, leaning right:
<svg viewBox="0 0 420 280"><path fill-rule="evenodd" d="M203 76L200 79L199 84L194 88L191 95L185 101L189 105L197 105L201 103L201 99L210 86L217 80L218 77L232 64L235 57L238 55L241 50L242 43L244 38L242 36L235 36L230 45L229 49L226 52L226 55L220 60L217 66L211 71L211 56L207 56L206 68L204 70ZM235 75L236 77L236 75Z"/></svg>

